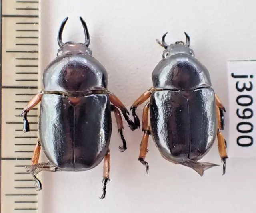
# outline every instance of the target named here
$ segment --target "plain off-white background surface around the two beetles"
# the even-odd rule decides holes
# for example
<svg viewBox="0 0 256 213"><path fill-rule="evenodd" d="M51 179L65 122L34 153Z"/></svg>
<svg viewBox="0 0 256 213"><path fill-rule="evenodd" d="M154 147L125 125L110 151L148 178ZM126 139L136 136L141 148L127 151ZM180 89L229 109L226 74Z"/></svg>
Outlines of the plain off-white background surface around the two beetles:
<svg viewBox="0 0 256 213"><path fill-rule="evenodd" d="M56 57L56 36L62 20L69 16L64 41L84 41L79 16L87 24L90 48L108 70L109 90L130 107L152 86L151 72L163 49L155 39L164 32L168 43L184 40L186 31L196 57L208 67L213 87L228 110L226 63L255 59L256 30L250 0L178 1L120 0L63 1L41 3L41 67ZM138 108L142 116L142 107ZM228 144L228 115L224 135ZM138 162L141 130L126 127L128 150L121 153L116 123L113 124L110 182L106 199L102 193L103 164L88 172L43 173L40 212L104 213L254 213L256 172L254 158L227 161L227 171L215 167L200 177L193 170L164 160L152 139L146 160L149 174ZM217 144L203 159L220 164Z"/></svg>

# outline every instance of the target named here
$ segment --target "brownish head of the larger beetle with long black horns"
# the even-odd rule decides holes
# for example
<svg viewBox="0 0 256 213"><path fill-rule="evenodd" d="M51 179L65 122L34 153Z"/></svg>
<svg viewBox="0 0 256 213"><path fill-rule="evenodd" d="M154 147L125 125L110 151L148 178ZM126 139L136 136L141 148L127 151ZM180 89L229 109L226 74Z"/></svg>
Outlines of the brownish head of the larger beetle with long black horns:
<svg viewBox="0 0 256 213"><path fill-rule="evenodd" d="M58 32L58 45L60 46L60 49L58 49L57 56L67 54L67 53L68 54L72 54L72 53L79 54L80 53L80 54L92 55L92 51L88 47L90 44L89 31L88 31L86 22L83 20L82 17L80 17L80 21L82 22L82 26L84 28L85 42L84 43L74 43L72 41L68 41L66 43L63 43L62 32L63 32L64 26L67 21L68 21L68 17L66 17L60 25L60 29Z"/></svg>

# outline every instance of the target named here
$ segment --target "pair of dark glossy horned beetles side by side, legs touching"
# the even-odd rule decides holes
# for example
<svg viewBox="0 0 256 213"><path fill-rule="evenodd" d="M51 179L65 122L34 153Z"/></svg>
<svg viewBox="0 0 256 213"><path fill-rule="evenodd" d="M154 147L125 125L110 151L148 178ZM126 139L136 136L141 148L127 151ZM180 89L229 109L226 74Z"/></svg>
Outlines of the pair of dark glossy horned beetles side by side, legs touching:
<svg viewBox="0 0 256 213"><path fill-rule="evenodd" d="M226 140L221 134L225 108L211 88L206 67L194 57L190 37L186 43L177 41L168 45L165 33L162 60L152 72L153 87L145 91L130 107L134 121L123 103L108 91L108 73L92 57L90 35L86 22L80 17L85 42L62 41L62 32L68 17L58 32L57 57L43 73L44 89L36 94L22 111L23 130L29 132L28 112L40 103L39 136L34 148L32 163L26 166L32 174L36 190L42 184L36 175L40 171L86 171L104 160L103 199L110 173L111 112L114 112L118 132L126 150L122 115L132 131L140 128L136 108L143 108L140 154L138 160L146 167L148 138L152 136L160 154L166 160L188 166L201 176L204 171L218 166L198 162L210 150L217 137L218 151L226 171ZM121 112L121 113L120 113ZM150 115L150 116L149 116ZM148 120L148 117L150 118ZM48 162L38 163L40 150Z"/></svg>

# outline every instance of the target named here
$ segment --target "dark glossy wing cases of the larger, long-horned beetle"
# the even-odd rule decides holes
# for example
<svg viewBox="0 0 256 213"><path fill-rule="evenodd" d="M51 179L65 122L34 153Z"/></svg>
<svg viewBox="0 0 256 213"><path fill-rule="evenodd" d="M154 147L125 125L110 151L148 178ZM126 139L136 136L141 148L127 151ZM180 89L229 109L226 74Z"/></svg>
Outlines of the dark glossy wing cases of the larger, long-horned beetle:
<svg viewBox="0 0 256 213"><path fill-rule="evenodd" d="M84 171L106 155L112 132L108 95L81 97L73 106L56 94L40 105L40 140L48 160L63 171Z"/></svg>

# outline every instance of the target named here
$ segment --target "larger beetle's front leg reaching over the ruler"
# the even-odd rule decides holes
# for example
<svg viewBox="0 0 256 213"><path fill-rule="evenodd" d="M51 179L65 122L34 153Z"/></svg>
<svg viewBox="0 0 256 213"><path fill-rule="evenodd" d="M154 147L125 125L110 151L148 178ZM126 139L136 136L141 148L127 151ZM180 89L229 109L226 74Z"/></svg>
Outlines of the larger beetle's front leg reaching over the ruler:
<svg viewBox="0 0 256 213"><path fill-rule="evenodd" d="M26 107L24 107L21 116L23 116L23 132L29 132L29 122L27 119L27 115L29 110L31 110L34 106L36 106L42 99L42 95L43 93L37 93L26 105Z"/></svg>

